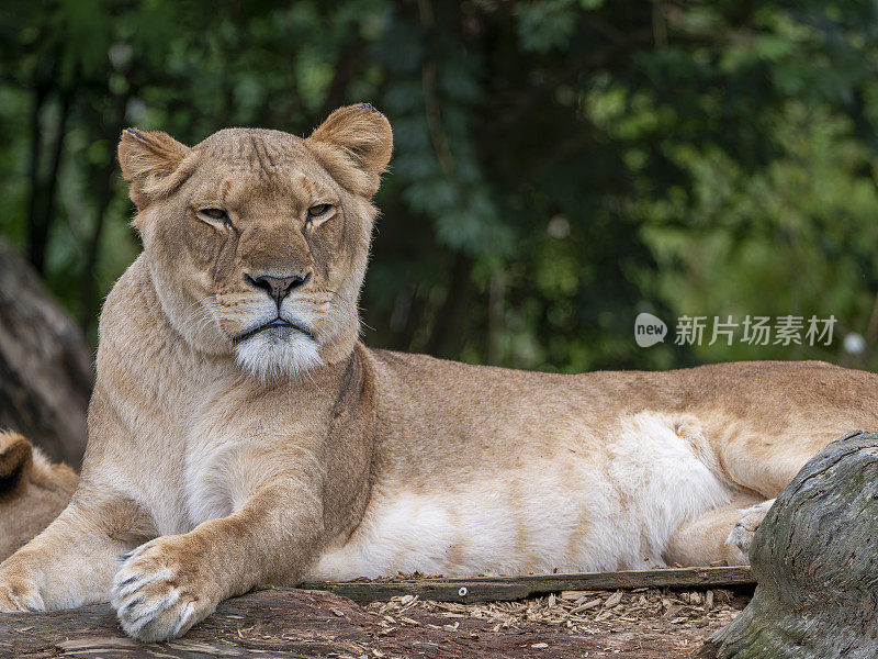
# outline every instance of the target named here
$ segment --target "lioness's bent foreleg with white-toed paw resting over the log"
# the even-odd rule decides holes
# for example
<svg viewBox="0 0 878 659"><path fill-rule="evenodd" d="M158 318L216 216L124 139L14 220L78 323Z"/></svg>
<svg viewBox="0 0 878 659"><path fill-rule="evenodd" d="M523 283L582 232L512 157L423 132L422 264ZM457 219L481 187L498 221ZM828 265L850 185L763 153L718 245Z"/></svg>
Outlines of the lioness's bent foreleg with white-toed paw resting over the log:
<svg viewBox="0 0 878 659"><path fill-rule="evenodd" d="M124 557L111 601L131 636L175 638L226 597L262 584L294 585L322 537L317 495L272 485L228 517L158 537Z"/></svg>

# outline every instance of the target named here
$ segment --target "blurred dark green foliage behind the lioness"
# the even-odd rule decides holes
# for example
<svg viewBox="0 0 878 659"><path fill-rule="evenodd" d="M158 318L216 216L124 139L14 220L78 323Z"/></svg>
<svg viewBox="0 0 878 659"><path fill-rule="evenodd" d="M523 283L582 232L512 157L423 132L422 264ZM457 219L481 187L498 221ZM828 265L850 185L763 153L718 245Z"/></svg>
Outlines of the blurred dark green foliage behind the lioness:
<svg viewBox="0 0 878 659"><path fill-rule="evenodd" d="M122 129L304 135L370 101L395 155L367 343L564 371L876 368L876 14L834 0L11 0L0 233L94 338L139 249ZM644 311L665 343L635 345ZM829 346L678 346L684 314L838 324ZM844 353L849 333L863 354Z"/></svg>

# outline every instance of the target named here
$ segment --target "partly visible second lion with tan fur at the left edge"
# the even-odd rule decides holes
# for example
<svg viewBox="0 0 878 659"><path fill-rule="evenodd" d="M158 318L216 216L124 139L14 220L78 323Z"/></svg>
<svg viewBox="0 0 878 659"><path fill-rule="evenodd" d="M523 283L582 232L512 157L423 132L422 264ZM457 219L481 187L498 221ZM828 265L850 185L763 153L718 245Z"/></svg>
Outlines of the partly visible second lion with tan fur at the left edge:
<svg viewBox="0 0 878 659"><path fill-rule="evenodd" d="M0 433L0 561L58 516L77 480L18 433Z"/></svg>

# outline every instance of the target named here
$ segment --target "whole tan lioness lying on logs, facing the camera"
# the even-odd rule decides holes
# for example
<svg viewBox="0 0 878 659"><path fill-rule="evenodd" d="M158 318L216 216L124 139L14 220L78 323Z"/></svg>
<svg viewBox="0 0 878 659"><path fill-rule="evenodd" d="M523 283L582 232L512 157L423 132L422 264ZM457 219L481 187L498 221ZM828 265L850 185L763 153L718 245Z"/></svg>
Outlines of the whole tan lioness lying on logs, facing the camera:
<svg viewBox="0 0 878 659"><path fill-rule="evenodd" d="M79 487L0 566L2 611L110 600L158 640L303 578L741 563L765 500L878 426L878 378L828 364L560 376L367 348L391 150L368 104L305 139L123 133L144 252L101 315Z"/></svg>

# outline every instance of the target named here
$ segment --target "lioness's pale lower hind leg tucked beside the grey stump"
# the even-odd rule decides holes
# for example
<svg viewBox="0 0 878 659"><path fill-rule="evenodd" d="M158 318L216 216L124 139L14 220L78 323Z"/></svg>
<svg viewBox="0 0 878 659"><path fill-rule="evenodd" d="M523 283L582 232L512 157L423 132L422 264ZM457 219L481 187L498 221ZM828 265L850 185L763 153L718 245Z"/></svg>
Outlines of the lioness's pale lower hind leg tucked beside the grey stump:
<svg viewBox="0 0 878 659"><path fill-rule="evenodd" d="M730 543L730 535L738 528L740 522L748 518L750 511L752 507L757 507L756 504L759 504L759 499L742 494L727 505L716 507L697 520L683 524L671 536L663 554L665 562L668 566L747 565L750 560L746 549L742 550L739 544ZM750 546L748 543L746 546Z"/></svg>

